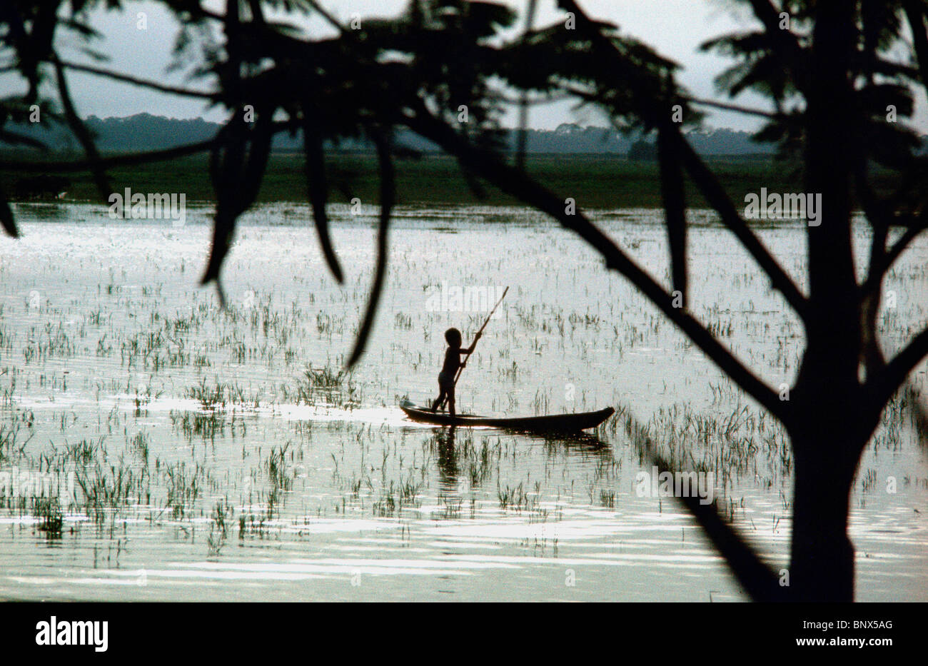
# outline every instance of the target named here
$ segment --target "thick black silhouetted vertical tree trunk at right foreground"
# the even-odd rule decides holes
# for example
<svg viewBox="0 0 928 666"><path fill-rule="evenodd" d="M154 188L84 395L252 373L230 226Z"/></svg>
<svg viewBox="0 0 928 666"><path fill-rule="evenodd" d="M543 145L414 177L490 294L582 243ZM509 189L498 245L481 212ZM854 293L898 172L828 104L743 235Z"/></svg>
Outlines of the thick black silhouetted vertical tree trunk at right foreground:
<svg viewBox="0 0 928 666"><path fill-rule="evenodd" d="M848 501L861 444L849 418L858 405L860 318L851 251L850 154L854 122L847 62L853 52L854 5L819 3L808 95L806 192L822 195L820 224L808 227L809 301L806 353L793 399L795 457L791 587L806 599L851 601L854 549L847 538Z"/></svg>

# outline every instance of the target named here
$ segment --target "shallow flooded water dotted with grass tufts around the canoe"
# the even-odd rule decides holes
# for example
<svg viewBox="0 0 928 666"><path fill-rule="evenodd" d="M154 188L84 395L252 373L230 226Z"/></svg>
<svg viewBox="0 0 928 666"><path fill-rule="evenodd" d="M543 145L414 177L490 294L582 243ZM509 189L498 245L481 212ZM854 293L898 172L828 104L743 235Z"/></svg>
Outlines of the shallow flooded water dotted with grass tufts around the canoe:
<svg viewBox="0 0 928 666"><path fill-rule="evenodd" d="M306 207L246 215L225 309L199 287L206 209L180 226L90 205L16 212L23 237L0 240L0 598L745 600L694 519L638 492L651 463L629 438L636 424L713 480L772 564L787 561L793 467L779 424L533 211L398 211L351 373L374 209L333 209L342 286ZM666 284L659 214L594 219ZM798 320L708 213L692 215L691 312L769 385L789 384ZM801 227L762 237L801 275ZM922 239L890 275L887 352L928 320L926 258ZM435 397L445 328L467 344L507 286L458 411L614 407L596 432L449 431L397 407ZM858 473L859 600L928 600L928 467L910 400L887 409Z"/></svg>

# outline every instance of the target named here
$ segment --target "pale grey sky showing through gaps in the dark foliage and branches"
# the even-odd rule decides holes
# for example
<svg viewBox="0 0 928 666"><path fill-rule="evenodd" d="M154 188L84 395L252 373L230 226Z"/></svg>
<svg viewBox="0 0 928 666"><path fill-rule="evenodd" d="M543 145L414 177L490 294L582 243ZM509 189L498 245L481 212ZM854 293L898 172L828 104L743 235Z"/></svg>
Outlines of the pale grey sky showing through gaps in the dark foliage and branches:
<svg viewBox="0 0 928 666"><path fill-rule="evenodd" d="M320 3L345 22L355 14L362 18L395 15L406 5L405 0L320 0ZM514 8L524 7L524 3L508 4ZM216 8L222 6L224 3L219 3ZM617 23L624 34L637 37L664 57L677 61L682 66L679 80L692 94L728 101L717 93L713 80L731 61L700 53L698 49L711 37L750 27L750 16L743 9L726 0L581 0L581 6L594 18ZM137 27L140 13L145 15L146 30ZM538 0L536 25L546 25L561 16L554 0ZM110 56L110 63L106 65L110 69L160 82L187 83L182 76L165 71L178 25L170 12L157 3L130 2L122 11L98 10L91 22L104 35L95 48ZM314 34L327 30L321 19L303 20L302 23ZM69 49L67 43L63 46L65 57L88 61L73 48ZM154 93L128 84L103 82L98 77L80 73L71 74L71 89L82 116L127 116L146 111L174 118L223 119L222 111L208 110L201 101ZM751 94L737 101L764 107L764 100ZM918 117L919 128L922 132L928 131L921 100ZM507 122L513 124L515 116ZM553 129L561 122L605 124L592 112L577 112L564 102L537 107L530 117L531 126L538 129ZM726 112L710 114L707 124L741 130L757 127L757 121L750 116Z"/></svg>

